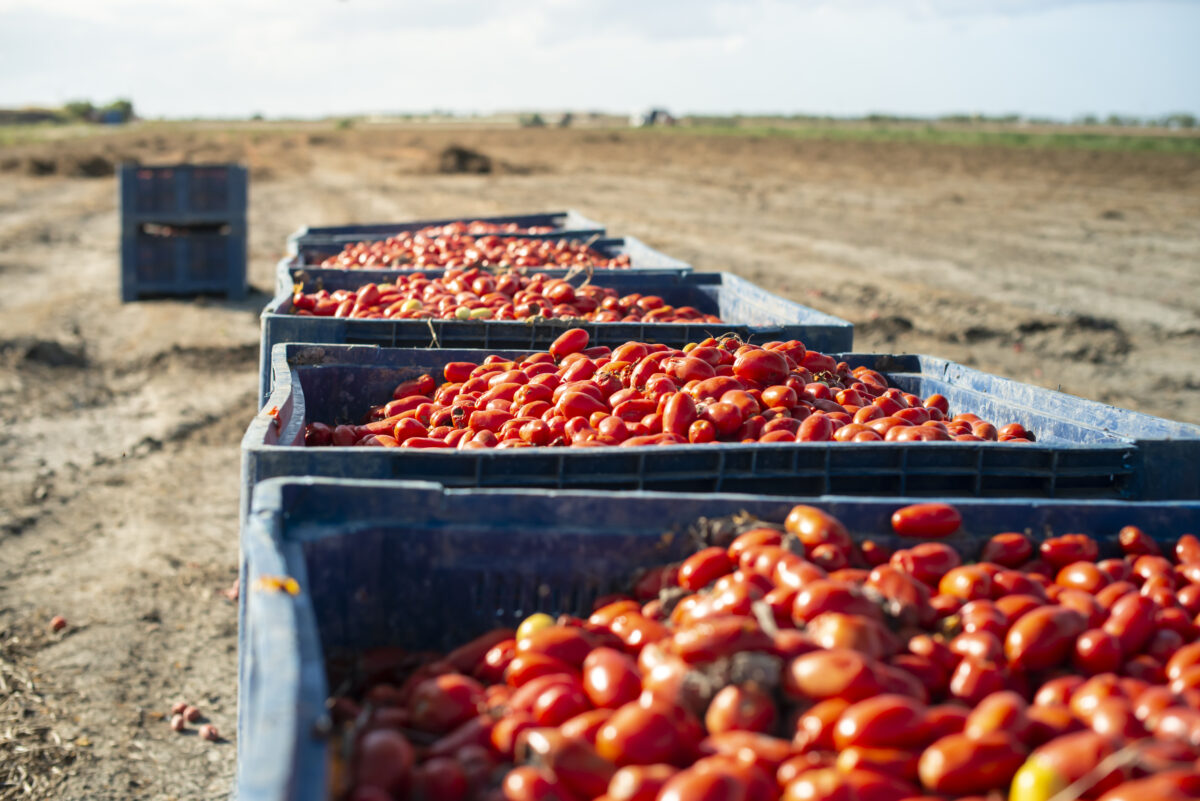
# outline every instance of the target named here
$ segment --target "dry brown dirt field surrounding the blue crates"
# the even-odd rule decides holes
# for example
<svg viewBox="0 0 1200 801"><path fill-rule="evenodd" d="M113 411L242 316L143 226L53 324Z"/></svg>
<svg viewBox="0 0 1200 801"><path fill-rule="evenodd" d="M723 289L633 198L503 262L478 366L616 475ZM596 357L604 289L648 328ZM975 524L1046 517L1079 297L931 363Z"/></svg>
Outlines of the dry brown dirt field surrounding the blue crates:
<svg viewBox="0 0 1200 801"><path fill-rule="evenodd" d="M496 170L437 173L450 143ZM83 176L122 157L250 164L258 291L122 306L115 183ZM0 799L228 794L232 740L164 715L187 699L235 728L221 590L286 235L560 207L848 318L859 350L1200 422L1195 156L367 127L0 149Z"/></svg>

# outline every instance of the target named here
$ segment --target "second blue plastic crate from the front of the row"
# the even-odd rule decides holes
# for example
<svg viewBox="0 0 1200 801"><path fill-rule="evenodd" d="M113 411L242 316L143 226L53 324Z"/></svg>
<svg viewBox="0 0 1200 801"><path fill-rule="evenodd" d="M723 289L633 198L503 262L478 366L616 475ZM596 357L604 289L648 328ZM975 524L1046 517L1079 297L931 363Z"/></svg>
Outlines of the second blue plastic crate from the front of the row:
<svg viewBox="0 0 1200 801"><path fill-rule="evenodd" d="M402 380L487 351L276 345L275 391L242 439L242 511L275 476L408 478L449 487L750 492L770 495L1200 498L1200 427L1028 386L931 356L841 354L1033 444L781 442L654 447L304 447L306 422L361 421ZM522 354L506 354L520 357ZM277 408L277 420L269 415Z"/></svg>

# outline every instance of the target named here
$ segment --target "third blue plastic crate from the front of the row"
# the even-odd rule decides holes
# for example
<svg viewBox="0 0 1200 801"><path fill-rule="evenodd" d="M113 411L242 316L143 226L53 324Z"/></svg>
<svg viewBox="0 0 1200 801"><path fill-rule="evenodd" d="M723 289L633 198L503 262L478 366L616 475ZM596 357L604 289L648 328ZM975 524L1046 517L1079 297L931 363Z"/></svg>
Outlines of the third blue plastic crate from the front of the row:
<svg viewBox="0 0 1200 801"><path fill-rule="evenodd" d="M328 276L323 288L356 289L372 281L386 281L374 271L342 270ZM583 276L574 281L576 285ZM728 272L644 273L610 270L599 284L620 295L660 295L671 306L695 306L716 314L724 324L686 323L578 323L539 320L356 320L290 314L292 290L276 297L263 311L263 348L259 351L259 396L270 393L271 348L281 342L311 344L371 344L385 348L484 348L487 350L545 350L566 329L582 327L593 345L616 347L631 339L683 347L709 336L734 333L748 342L799 339L823 353L850 350L854 326L806 306L773 295ZM307 289L316 289L308 284Z"/></svg>

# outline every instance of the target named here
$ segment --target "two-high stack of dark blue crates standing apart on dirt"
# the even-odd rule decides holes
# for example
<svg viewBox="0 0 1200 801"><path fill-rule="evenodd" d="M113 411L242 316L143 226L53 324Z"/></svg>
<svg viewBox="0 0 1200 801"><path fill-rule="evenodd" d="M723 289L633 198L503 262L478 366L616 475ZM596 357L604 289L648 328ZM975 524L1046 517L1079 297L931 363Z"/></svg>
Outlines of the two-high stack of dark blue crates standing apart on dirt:
<svg viewBox="0 0 1200 801"><path fill-rule="evenodd" d="M246 168L122 164L121 300L246 294Z"/></svg>

